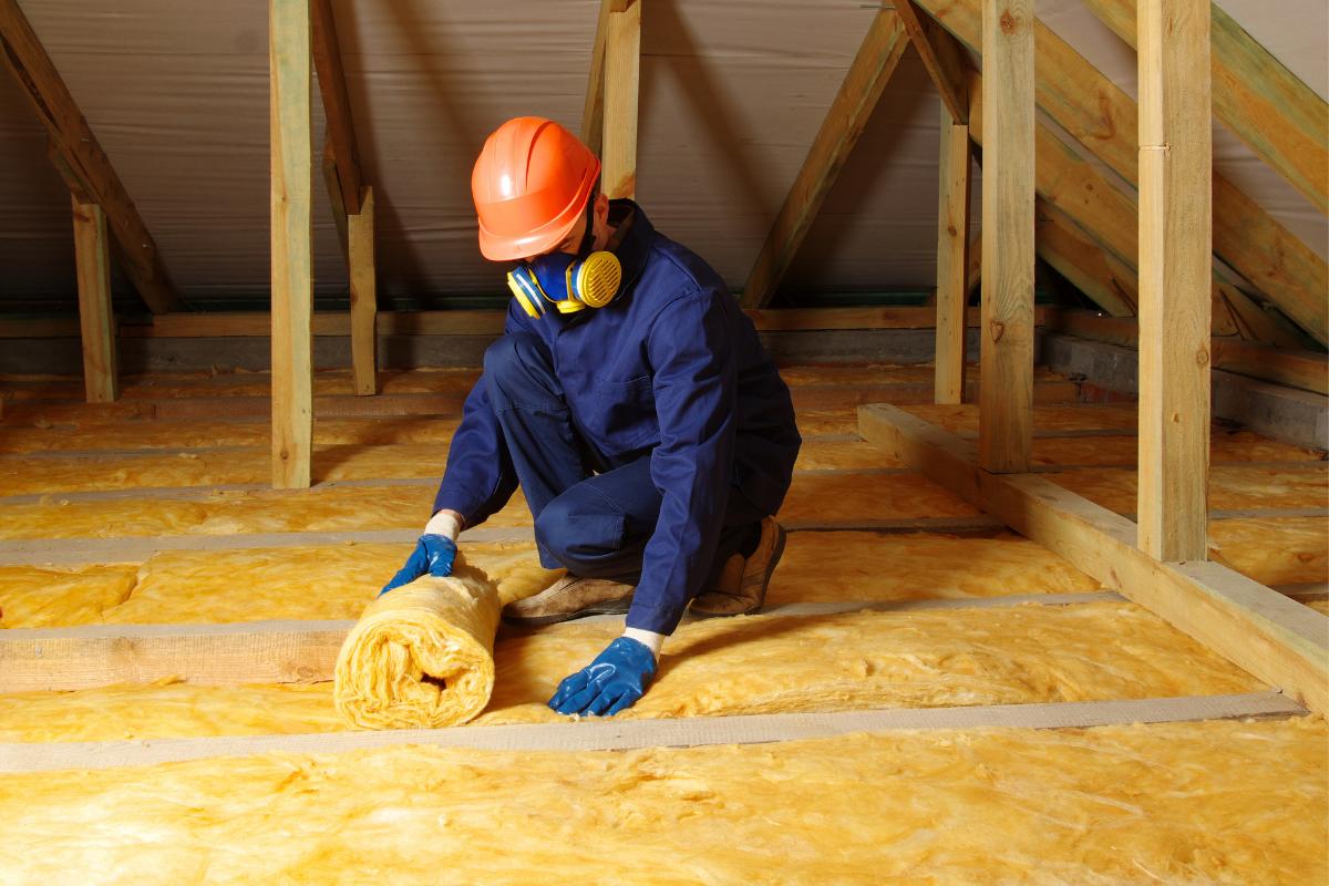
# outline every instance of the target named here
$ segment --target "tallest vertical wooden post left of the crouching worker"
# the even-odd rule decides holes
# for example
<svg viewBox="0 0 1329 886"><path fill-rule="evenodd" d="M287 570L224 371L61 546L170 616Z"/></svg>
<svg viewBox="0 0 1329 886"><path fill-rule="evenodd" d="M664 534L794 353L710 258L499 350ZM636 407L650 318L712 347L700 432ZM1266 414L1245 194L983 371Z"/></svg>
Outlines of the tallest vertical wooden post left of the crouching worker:
<svg viewBox="0 0 1329 886"><path fill-rule="evenodd" d="M314 442L310 0L270 0L272 486L306 489Z"/></svg>

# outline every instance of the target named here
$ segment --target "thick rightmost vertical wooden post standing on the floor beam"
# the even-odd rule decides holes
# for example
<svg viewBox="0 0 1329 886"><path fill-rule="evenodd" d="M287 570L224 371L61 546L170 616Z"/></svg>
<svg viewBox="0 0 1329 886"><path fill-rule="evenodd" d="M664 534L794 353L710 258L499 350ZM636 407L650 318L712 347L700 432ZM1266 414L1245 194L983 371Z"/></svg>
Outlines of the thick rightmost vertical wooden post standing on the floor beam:
<svg viewBox="0 0 1329 886"><path fill-rule="evenodd" d="M1140 0L1139 546L1207 557L1209 0Z"/></svg>

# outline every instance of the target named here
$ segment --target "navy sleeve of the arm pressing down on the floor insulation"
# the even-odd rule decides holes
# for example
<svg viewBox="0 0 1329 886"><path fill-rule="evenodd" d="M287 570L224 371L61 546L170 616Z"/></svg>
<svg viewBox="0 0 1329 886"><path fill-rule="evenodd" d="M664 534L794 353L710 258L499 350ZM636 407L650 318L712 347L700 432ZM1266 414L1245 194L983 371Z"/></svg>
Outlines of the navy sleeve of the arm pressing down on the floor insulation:
<svg viewBox="0 0 1329 886"><path fill-rule="evenodd" d="M730 497L738 414L727 298L694 291L666 306L651 327L647 353L661 429L661 442L651 452L651 480L662 503L627 627L672 634L715 557Z"/></svg>

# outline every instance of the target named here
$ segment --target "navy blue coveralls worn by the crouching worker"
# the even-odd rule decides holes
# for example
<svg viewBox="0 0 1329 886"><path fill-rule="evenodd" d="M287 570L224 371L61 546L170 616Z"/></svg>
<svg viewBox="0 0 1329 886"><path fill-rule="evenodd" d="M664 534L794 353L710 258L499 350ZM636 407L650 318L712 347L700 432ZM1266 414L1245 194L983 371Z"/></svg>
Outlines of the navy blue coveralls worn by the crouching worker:
<svg viewBox="0 0 1329 886"><path fill-rule="evenodd" d="M671 634L779 510L801 440L789 389L719 275L635 203L611 203L611 221L629 214L607 307L532 319L509 306L435 511L477 526L520 482L541 562L635 583L627 626Z"/></svg>

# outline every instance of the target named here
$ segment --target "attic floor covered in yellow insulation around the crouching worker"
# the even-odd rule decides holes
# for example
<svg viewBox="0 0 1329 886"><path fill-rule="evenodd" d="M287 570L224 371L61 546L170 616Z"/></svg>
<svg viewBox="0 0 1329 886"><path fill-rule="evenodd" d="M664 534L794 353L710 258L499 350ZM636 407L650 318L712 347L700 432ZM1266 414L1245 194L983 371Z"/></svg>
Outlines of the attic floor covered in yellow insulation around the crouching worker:
<svg viewBox="0 0 1329 886"><path fill-rule="evenodd" d="M780 515L795 531L768 612L686 622L626 719L1268 688L857 438L860 401L975 432L973 406L917 404L926 373L785 371L807 442ZM106 406L80 404L77 380L5 379L0 628L356 618L419 530L473 380L383 373L383 399L355 399L348 373L319 373L316 487L274 493L262 375L126 379ZM1039 469L1134 510L1134 406L1076 404L1074 385L1049 373L1038 385ZM393 414L373 414L376 405ZM1212 555L1329 608L1324 453L1215 426L1212 460ZM481 530L482 541L464 537L464 555L505 598L552 579L522 502ZM918 606L936 600L964 606ZM812 602L845 606L788 608ZM544 699L615 631L605 619L501 630L494 696L477 723L557 719ZM332 732L343 727L330 696L328 684L181 683L0 695L0 741ZM496 883L1322 882L1326 752L1324 719L1301 716L634 752L384 748L9 774L0 871L112 871L113 882L437 882L440 871Z"/></svg>

